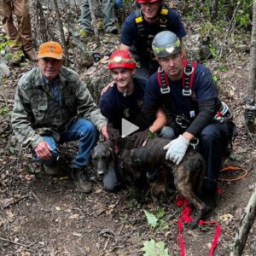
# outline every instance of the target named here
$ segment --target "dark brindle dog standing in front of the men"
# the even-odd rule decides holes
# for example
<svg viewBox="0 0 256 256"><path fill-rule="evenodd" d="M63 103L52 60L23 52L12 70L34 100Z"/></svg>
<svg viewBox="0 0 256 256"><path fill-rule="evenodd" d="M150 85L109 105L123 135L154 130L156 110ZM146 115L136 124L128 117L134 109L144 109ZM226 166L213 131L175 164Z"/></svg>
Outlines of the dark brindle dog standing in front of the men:
<svg viewBox="0 0 256 256"><path fill-rule="evenodd" d="M170 140L150 138L145 147L119 150L117 166L125 173L139 180L148 170L163 166L168 168L174 177L177 191L193 204L197 210L195 219L190 228L195 228L197 222L208 211L207 205L197 195L201 193L203 178L206 172L205 160L193 148L189 148L180 165L166 160L166 151L163 149ZM108 172L108 163L115 160L110 142L98 144L92 153L92 160L96 172ZM105 163L103 163L105 162ZM103 169L104 168L104 169Z"/></svg>

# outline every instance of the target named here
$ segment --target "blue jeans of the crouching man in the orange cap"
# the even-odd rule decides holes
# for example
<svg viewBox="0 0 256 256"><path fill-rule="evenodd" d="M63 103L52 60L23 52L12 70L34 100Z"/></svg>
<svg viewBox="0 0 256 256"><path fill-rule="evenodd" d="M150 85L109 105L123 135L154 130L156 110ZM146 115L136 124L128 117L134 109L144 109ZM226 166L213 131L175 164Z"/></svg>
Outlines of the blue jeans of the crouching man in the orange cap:
<svg viewBox="0 0 256 256"><path fill-rule="evenodd" d="M79 140L79 151L72 160L73 167L86 167L90 159L90 151L96 145L99 138L99 131L96 126L89 120L79 118L74 123L68 126L67 131L61 133L59 143L66 143L70 141ZM44 141L49 144L52 157L50 160L40 160L35 158L41 164L50 166L59 158L59 148L54 137L44 137Z"/></svg>

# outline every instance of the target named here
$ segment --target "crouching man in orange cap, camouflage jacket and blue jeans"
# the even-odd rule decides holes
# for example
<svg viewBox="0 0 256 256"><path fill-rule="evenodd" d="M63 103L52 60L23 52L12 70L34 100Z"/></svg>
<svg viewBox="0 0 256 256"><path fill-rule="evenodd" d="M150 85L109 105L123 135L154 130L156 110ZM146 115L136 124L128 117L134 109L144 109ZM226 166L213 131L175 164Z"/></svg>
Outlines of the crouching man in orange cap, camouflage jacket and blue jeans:
<svg viewBox="0 0 256 256"><path fill-rule="evenodd" d="M41 44L38 67L25 73L15 94L12 125L17 140L32 148L45 171L59 171L58 143L79 140L71 177L81 192L90 192L86 173L90 150L99 131L108 139L105 119L78 73L63 67L63 51L56 42Z"/></svg>

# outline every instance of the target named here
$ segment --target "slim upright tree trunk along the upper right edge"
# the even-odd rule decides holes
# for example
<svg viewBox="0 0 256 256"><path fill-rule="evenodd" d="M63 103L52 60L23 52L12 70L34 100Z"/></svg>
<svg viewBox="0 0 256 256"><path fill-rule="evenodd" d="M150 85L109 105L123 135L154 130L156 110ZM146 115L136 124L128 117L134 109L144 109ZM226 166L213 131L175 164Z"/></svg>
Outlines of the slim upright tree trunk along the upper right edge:
<svg viewBox="0 0 256 256"><path fill-rule="evenodd" d="M256 90L256 3L253 3L253 28L251 38L251 55L249 84L247 86L247 102L245 110L245 121L250 128L253 128L256 116L255 90Z"/></svg>

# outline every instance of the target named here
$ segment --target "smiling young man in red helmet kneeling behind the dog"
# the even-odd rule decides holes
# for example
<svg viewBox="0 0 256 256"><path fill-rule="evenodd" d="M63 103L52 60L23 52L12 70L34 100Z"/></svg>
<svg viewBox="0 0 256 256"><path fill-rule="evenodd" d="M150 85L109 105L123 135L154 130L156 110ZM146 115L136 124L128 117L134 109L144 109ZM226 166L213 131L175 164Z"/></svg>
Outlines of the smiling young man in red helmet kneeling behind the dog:
<svg viewBox="0 0 256 256"><path fill-rule="evenodd" d="M134 78L136 62L127 50L117 49L109 58L108 69L113 78L113 86L108 88L100 99L102 114L108 118L108 137L117 141L122 131L122 119L134 123L139 122L141 129L146 129L148 123L143 119L137 120L138 113L143 106L143 95L147 82ZM166 124L166 115L162 109L156 109L154 121L145 130L149 136L172 138L174 134ZM103 178L104 189L113 191L117 186L117 177L114 170L110 170ZM148 178L154 179L157 172L148 172Z"/></svg>

